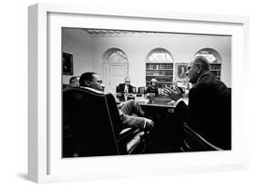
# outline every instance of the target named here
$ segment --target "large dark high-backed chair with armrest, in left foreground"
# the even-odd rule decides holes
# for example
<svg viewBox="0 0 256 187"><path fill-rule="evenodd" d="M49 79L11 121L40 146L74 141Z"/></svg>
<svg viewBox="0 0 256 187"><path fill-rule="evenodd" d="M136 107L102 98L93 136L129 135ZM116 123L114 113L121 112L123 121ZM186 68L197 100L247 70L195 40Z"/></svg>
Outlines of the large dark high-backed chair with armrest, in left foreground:
<svg viewBox="0 0 256 187"><path fill-rule="evenodd" d="M141 153L145 149L144 132L122 127L112 94L89 88L64 91L63 124L73 135L78 156Z"/></svg>

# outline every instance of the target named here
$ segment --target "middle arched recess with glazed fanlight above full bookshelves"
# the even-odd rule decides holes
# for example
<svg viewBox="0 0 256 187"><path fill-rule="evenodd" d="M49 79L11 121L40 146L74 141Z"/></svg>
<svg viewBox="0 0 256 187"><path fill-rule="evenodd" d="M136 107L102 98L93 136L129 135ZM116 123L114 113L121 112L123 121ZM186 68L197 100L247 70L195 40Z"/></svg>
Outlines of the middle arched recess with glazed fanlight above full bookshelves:
<svg viewBox="0 0 256 187"><path fill-rule="evenodd" d="M157 79L159 87L170 86L173 82L173 57L163 48L150 51L146 58L146 84Z"/></svg>

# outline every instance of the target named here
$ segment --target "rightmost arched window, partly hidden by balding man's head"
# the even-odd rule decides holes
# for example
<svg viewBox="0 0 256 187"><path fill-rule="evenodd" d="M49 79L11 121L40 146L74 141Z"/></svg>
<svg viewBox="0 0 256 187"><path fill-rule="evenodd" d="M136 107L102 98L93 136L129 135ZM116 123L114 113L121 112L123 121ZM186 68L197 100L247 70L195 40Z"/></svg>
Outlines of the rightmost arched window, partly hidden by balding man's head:
<svg viewBox="0 0 256 187"><path fill-rule="evenodd" d="M221 73L221 57L220 54L211 48L201 49L195 56L203 56L205 57L210 64L210 74L214 74L217 78L220 79Z"/></svg>

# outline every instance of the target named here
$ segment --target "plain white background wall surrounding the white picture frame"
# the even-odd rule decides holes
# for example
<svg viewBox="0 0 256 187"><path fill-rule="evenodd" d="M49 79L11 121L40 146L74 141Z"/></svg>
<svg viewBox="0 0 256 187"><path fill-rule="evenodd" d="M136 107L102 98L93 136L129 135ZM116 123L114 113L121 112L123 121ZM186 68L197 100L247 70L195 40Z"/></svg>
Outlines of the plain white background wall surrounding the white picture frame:
<svg viewBox="0 0 256 187"><path fill-rule="evenodd" d="M217 15L248 15L250 26L251 66L248 74L251 86L241 89L248 93L246 102L251 121L250 147L251 170L243 172L193 173L183 175L166 175L156 177L138 177L129 179L109 179L88 182L66 182L42 184L43 186L255 186L255 69L256 69L256 12L253 1L215 0L210 3L203 0L171 1L171 0L46 0L1 2L1 186L37 186L26 180L27 172L27 5L37 2L65 3L77 5L98 5L102 8L127 7L139 10L173 11L185 13L207 13ZM242 63L242 62L241 62ZM242 78L242 77L241 77Z"/></svg>

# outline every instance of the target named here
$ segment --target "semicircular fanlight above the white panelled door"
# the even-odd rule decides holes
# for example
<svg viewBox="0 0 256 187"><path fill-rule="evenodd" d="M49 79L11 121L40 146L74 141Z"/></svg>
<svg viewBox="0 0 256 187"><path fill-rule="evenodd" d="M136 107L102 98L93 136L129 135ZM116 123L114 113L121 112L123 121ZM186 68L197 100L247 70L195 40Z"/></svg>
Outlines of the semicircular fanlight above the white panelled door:
<svg viewBox="0 0 256 187"><path fill-rule="evenodd" d="M106 63L128 63L127 54L118 48L111 48L104 54Z"/></svg>

